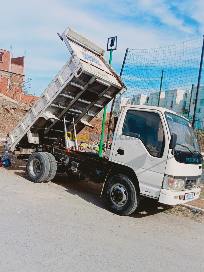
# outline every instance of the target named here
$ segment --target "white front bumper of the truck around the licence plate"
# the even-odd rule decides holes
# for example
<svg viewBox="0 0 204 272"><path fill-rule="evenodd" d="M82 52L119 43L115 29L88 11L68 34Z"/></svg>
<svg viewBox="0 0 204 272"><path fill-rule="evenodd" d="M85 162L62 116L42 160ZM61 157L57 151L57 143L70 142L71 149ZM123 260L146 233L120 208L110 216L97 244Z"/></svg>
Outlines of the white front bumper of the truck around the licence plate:
<svg viewBox="0 0 204 272"><path fill-rule="evenodd" d="M194 198L190 200L183 200L180 199L180 197L184 197L185 194L187 193L195 193ZM200 188L193 188L190 190L184 190L184 191L171 191L171 190L166 190L162 189L160 191L160 196L159 196L159 202L167 205L177 205L177 204L182 204L189 202L191 200L198 199L200 195ZM183 198L182 197L182 198Z"/></svg>

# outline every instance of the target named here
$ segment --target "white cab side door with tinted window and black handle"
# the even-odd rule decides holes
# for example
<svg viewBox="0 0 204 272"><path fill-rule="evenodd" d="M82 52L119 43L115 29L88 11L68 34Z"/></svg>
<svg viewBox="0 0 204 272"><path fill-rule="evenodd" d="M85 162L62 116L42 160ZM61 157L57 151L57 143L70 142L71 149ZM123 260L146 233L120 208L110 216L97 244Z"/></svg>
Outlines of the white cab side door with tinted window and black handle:
<svg viewBox="0 0 204 272"><path fill-rule="evenodd" d="M124 107L115 133L110 160L134 170L141 194L158 198L169 149L162 113Z"/></svg>

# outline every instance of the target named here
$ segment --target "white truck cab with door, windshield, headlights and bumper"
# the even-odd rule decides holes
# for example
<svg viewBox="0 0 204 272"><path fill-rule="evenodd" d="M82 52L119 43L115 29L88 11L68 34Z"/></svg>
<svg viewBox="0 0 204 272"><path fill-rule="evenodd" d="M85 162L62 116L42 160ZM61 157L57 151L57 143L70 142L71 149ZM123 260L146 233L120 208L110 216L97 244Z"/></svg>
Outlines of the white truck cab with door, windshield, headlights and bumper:
<svg viewBox="0 0 204 272"><path fill-rule="evenodd" d="M197 199L202 154L189 121L162 107L126 105L109 160L135 173L140 195L176 205Z"/></svg>

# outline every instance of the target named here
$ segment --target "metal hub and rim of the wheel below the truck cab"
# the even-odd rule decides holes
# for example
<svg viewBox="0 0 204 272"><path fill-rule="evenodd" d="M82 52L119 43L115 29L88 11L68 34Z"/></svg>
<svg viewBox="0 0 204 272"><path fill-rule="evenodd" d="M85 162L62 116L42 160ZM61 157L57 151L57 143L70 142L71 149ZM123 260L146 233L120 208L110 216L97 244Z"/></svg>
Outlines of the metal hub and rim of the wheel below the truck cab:
<svg viewBox="0 0 204 272"><path fill-rule="evenodd" d="M122 207L126 204L128 193L124 185L114 184L110 190L110 199L114 205Z"/></svg>

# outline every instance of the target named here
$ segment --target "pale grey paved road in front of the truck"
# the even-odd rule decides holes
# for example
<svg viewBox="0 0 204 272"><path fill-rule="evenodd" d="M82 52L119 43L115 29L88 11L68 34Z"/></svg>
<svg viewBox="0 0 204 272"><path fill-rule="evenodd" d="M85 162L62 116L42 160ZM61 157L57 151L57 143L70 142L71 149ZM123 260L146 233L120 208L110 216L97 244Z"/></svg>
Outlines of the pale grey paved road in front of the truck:
<svg viewBox="0 0 204 272"><path fill-rule="evenodd" d="M0 172L0 271L203 271L204 227Z"/></svg>

